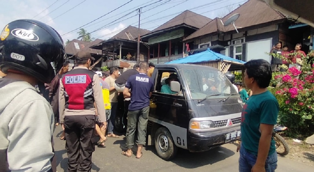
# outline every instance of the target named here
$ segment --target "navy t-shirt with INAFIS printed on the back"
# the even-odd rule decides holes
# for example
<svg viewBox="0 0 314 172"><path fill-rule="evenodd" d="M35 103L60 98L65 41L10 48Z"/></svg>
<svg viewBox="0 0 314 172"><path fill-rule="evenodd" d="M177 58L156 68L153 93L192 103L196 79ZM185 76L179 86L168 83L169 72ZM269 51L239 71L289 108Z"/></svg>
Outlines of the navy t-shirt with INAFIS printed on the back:
<svg viewBox="0 0 314 172"><path fill-rule="evenodd" d="M154 91L153 80L144 73L132 75L125 87L131 89L131 103L129 111L140 110L149 106L149 92Z"/></svg>

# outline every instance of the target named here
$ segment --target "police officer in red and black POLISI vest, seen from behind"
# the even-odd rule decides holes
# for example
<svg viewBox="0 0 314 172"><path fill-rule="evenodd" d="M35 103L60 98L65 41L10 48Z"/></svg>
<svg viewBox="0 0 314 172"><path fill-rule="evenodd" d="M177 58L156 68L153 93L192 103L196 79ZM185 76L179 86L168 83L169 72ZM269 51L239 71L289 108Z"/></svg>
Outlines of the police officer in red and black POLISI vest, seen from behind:
<svg viewBox="0 0 314 172"><path fill-rule="evenodd" d="M89 52L75 54L77 67L62 75L59 91L60 123L65 131L68 172L91 171L95 151L95 107L99 121L106 126L104 100L98 75L89 70Z"/></svg>

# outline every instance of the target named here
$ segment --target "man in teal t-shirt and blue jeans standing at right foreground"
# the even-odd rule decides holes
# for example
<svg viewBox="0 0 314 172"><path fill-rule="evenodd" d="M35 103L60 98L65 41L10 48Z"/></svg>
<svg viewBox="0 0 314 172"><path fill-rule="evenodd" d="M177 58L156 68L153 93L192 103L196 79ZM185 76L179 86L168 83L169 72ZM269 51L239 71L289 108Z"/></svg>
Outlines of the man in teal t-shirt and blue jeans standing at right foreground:
<svg viewBox="0 0 314 172"><path fill-rule="evenodd" d="M274 172L277 153L272 137L279 104L267 89L272 78L271 65L263 59L244 64L245 85L253 92L241 114L240 172Z"/></svg>

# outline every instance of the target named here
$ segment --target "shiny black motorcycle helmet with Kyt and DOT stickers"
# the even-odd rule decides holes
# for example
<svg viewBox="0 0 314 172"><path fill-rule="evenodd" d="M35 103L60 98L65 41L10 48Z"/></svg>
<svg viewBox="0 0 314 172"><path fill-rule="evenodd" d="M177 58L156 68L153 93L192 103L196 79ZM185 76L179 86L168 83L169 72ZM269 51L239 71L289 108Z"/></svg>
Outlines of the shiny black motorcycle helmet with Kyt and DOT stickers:
<svg viewBox="0 0 314 172"><path fill-rule="evenodd" d="M0 35L0 69L19 71L50 83L62 68L64 45L52 27L31 19L5 26Z"/></svg>

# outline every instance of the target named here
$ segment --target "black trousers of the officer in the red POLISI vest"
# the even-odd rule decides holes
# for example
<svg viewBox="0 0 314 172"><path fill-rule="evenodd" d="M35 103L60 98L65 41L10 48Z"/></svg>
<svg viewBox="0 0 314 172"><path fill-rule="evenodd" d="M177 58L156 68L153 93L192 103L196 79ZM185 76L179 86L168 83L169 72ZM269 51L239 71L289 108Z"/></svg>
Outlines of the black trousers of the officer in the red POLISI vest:
<svg viewBox="0 0 314 172"><path fill-rule="evenodd" d="M95 151L95 115L65 116L68 172L89 172Z"/></svg>

